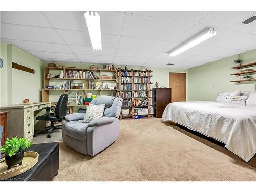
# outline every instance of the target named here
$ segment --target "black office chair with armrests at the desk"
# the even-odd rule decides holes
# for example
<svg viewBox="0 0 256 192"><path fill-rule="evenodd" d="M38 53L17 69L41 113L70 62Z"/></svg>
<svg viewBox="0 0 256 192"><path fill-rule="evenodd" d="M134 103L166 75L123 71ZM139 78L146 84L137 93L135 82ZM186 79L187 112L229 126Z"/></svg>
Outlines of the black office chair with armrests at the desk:
<svg viewBox="0 0 256 192"><path fill-rule="evenodd" d="M46 110L46 114L42 116L36 117L36 120L39 121L51 121L51 126L47 126L44 129L34 133L34 136L36 137L39 133L48 131L48 134L46 137L50 138L51 133L54 129L61 129L61 124L54 126L54 122L62 122L65 115L67 115L67 105L68 105L68 95L63 94L60 96L58 103L55 106L54 113L50 113L51 110L53 110L52 107L42 108Z"/></svg>

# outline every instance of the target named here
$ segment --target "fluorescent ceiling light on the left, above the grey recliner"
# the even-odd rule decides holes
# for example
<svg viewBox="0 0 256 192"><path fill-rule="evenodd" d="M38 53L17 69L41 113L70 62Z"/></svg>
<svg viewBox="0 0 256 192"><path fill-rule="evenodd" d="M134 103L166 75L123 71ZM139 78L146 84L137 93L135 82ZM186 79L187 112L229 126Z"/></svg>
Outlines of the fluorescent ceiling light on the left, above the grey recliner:
<svg viewBox="0 0 256 192"><path fill-rule="evenodd" d="M93 50L102 50L99 14L96 11L87 11L84 13L84 18L86 18Z"/></svg>

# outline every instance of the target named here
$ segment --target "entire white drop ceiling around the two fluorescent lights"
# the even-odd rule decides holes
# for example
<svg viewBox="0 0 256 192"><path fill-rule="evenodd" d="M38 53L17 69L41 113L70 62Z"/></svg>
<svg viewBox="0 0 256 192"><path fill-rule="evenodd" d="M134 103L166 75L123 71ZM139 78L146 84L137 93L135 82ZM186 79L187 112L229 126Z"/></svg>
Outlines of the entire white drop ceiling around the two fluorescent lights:
<svg viewBox="0 0 256 192"><path fill-rule="evenodd" d="M100 11L102 51L93 51L84 12L2 11L1 40L45 61L181 69L256 48L256 21L241 24L255 11ZM216 28L216 36L168 57L170 50L209 27Z"/></svg>

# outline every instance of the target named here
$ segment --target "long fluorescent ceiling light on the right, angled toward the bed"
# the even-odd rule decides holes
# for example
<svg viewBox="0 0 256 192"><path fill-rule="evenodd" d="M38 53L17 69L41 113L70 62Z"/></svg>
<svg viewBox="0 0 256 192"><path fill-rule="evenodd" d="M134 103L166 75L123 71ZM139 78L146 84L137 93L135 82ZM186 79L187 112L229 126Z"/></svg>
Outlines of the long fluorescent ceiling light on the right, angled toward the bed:
<svg viewBox="0 0 256 192"><path fill-rule="evenodd" d="M197 35L196 37L190 39L188 42L180 46L179 48L175 49L174 51L170 52L169 56L175 57L176 55L179 55L180 53L183 53L184 51L200 44L201 42L207 40L208 38L211 38L213 36L217 35L214 28L209 28L200 35Z"/></svg>

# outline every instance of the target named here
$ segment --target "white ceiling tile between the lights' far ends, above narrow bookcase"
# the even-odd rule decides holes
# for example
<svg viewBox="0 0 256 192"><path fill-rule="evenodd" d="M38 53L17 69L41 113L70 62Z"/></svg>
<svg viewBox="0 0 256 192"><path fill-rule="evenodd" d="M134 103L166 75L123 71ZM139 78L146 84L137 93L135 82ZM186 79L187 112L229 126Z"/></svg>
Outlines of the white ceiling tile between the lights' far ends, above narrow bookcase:
<svg viewBox="0 0 256 192"><path fill-rule="evenodd" d="M152 58L156 55L157 52L151 51L139 51L139 50L130 50L130 49L118 49L116 56L121 57L136 57L136 58Z"/></svg>

